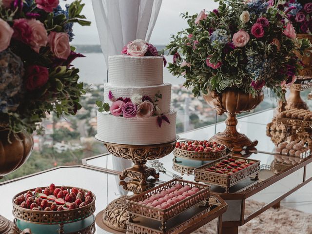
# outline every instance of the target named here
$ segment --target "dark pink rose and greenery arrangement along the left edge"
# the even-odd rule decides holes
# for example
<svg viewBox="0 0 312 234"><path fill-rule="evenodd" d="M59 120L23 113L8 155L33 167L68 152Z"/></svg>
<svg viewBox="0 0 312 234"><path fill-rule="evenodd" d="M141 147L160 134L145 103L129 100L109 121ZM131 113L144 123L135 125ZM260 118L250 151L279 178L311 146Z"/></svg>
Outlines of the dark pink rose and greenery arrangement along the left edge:
<svg viewBox="0 0 312 234"><path fill-rule="evenodd" d="M90 25L76 0L0 1L0 127L32 133L46 113L75 115L84 94L69 42L73 23Z"/></svg>

